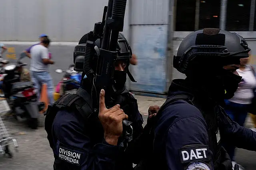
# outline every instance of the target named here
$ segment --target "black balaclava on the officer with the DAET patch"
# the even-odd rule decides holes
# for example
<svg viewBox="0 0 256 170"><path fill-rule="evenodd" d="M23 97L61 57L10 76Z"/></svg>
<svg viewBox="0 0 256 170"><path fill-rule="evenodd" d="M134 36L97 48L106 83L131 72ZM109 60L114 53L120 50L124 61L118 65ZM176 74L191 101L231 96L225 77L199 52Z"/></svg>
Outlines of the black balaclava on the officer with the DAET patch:
<svg viewBox="0 0 256 170"><path fill-rule="evenodd" d="M204 68L191 70L187 75L188 83L202 95L214 99L216 102L230 99L234 96L241 76L224 68ZM207 71L206 71L207 70Z"/></svg>

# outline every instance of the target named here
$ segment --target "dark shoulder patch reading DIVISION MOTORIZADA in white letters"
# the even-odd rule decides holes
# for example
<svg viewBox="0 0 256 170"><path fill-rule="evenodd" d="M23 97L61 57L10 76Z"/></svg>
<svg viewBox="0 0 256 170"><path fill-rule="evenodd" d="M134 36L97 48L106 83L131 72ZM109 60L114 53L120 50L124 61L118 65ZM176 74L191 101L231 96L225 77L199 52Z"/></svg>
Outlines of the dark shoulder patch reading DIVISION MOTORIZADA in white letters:
<svg viewBox="0 0 256 170"><path fill-rule="evenodd" d="M82 150L74 149L72 147L68 147L63 145L62 143L58 143L57 150L58 158L68 162L70 164L75 164L80 166L81 160L84 158L84 152Z"/></svg>

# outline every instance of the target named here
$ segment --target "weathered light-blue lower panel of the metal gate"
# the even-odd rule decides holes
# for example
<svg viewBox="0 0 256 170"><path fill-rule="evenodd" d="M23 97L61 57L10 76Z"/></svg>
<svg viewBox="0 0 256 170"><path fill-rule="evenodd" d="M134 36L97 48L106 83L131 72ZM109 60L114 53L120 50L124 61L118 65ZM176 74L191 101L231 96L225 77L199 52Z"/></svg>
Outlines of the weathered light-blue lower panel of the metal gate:
<svg viewBox="0 0 256 170"><path fill-rule="evenodd" d="M138 65L132 66L135 91L163 93L166 89L167 25L132 26L132 49Z"/></svg>

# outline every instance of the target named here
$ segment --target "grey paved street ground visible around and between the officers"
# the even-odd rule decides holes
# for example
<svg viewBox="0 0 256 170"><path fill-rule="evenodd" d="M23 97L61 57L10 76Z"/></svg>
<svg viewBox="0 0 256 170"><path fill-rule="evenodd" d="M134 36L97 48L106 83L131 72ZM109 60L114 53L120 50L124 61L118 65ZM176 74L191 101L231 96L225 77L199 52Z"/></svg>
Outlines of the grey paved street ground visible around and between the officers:
<svg viewBox="0 0 256 170"><path fill-rule="evenodd" d="M151 105L161 105L163 98L153 98L137 96L140 112L146 120L148 107ZM53 156L46 139L43 128L30 130L24 123L18 123L12 117L5 117L6 127L12 136L18 141L18 152L14 152L14 147L10 147L14 152L13 158L0 156L0 170L52 170ZM144 122L146 123L146 122ZM247 126L250 126L247 121ZM256 167L256 152L239 149L237 160L246 170L254 170Z"/></svg>

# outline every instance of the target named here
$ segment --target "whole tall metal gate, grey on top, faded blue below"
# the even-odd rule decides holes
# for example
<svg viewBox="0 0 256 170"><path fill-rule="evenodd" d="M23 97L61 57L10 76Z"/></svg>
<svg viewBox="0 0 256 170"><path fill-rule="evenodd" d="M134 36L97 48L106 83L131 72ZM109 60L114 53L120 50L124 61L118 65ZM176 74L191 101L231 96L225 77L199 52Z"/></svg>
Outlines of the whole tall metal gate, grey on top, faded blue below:
<svg viewBox="0 0 256 170"><path fill-rule="evenodd" d="M166 47L169 0L131 0L130 39L138 65L131 66L136 83L130 89L139 92L166 91Z"/></svg>

